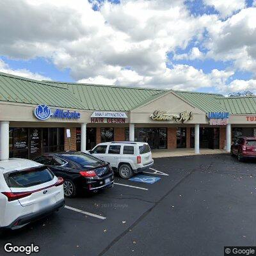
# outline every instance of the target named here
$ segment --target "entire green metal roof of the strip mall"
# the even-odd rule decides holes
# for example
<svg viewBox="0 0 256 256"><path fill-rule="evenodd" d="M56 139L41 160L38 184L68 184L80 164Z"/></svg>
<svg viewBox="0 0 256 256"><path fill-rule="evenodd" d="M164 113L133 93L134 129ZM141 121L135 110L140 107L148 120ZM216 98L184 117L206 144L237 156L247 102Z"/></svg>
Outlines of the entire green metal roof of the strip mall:
<svg viewBox="0 0 256 256"><path fill-rule="evenodd" d="M47 104L102 111L131 111L170 90L115 85L36 81L0 72L0 101ZM224 97L215 93L173 91L205 113L256 113L256 97Z"/></svg>

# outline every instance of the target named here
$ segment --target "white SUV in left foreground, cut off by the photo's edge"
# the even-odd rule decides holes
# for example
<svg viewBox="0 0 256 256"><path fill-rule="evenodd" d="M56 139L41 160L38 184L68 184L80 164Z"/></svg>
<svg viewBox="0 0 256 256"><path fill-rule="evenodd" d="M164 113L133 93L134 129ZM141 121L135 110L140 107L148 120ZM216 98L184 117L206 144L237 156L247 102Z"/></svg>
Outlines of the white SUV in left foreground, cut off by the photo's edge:
<svg viewBox="0 0 256 256"><path fill-rule="evenodd" d="M23 227L64 205L63 179L27 159L0 161L0 232Z"/></svg>

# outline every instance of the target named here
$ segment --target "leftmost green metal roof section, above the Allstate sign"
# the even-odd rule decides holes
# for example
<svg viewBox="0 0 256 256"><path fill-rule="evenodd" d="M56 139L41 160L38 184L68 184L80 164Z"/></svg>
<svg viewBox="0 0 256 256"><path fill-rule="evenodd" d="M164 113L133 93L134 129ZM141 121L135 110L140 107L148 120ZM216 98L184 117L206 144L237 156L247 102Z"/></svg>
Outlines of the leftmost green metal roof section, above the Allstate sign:
<svg viewBox="0 0 256 256"><path fill-rule="evenodd" d="M69 90L40 81L0 72L0 100L83 109Z"/></svg>

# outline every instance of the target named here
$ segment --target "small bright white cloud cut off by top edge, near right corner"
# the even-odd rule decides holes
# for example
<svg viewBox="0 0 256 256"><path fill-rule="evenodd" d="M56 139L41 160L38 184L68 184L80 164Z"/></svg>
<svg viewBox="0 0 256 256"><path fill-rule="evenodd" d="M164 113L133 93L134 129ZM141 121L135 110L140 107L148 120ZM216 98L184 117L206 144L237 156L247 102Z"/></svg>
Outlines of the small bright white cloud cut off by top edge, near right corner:
<svg viewBox="0 0 256 256"><path fill-rule="evenodd" d="M204 0L204 3L214 6L220 12L221 18L226 18L246 6L245 0Z"/></svg>

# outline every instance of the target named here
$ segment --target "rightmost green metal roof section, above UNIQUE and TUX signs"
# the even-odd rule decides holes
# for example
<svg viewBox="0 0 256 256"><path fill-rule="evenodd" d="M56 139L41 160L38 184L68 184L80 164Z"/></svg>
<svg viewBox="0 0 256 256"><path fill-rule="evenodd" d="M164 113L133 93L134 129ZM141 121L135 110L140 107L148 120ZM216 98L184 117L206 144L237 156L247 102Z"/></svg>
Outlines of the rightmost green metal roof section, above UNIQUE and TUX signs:
<svg viewBox="0 0 256 256"><path fill-rule="evenodd" d="M256 113L256 96L225 97L218 100L223 108L234 115Z"/></svg>

